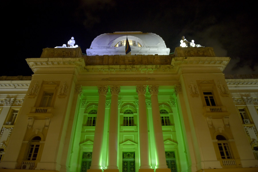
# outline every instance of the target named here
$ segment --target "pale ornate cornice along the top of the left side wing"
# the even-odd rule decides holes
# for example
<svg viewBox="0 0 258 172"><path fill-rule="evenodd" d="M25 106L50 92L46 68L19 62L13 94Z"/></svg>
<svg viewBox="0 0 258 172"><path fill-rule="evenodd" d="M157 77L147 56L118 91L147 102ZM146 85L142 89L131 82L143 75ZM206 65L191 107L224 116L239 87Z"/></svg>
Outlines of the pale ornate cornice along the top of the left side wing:
<svg viewBox="0 0 258 172"><path fill-rule="evenodd" d="M28 81L0 81L0 90L28 90L30 86Z"/></svg>

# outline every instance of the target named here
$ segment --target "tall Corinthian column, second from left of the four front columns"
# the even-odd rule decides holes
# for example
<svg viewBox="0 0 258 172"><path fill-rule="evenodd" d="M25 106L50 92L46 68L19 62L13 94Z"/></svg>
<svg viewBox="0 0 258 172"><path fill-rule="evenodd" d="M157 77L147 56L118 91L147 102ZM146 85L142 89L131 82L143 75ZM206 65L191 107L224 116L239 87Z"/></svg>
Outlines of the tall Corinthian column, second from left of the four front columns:
<svg viewBox="0 0 258 172"><path fill-rule="evenodd" d="M107 169L105 171L116 171L117 167L117 142L118 142L118 94L120 86L110 86L111 104L108 135Z"/></svg>

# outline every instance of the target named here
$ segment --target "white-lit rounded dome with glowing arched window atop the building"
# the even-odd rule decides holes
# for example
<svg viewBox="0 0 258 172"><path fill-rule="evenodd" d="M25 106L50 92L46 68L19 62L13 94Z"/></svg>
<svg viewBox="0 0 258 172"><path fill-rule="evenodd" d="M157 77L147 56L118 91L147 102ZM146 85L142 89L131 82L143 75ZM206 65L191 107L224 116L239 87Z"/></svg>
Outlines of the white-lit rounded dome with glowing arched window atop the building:
<svg viewBox="0 0 258 172"><path fill-rule="evenodd" d="M92 41L91 47L86 50L87 55L125 55L126 34L132 55L168 55L170 52L164 40L155 33L114 32L97 36Z"/></svg>

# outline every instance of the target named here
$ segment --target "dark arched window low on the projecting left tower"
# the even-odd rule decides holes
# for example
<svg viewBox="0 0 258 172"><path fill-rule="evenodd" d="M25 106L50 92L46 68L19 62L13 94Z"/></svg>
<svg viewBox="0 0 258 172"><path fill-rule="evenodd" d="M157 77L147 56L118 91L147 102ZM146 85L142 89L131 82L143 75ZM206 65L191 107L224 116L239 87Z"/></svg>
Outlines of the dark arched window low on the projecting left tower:
<svg viewBox="0 0 258 172"><path fill-rule="evenodd" d="M41 137L36 136L31 139L29 150L26 156L26 160L35 161L37 159L38 151L40 148Z"/></svg>

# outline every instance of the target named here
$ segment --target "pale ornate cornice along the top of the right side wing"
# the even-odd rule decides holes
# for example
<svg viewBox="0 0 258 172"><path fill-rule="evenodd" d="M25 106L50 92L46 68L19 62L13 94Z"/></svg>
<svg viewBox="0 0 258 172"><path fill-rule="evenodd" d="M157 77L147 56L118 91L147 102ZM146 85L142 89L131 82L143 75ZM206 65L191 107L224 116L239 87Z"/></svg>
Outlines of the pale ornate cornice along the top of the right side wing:
<svg viewBox="0 0 258 172"><path fill-rule="evenodd" d="M258 89L258 79L226 79L228 89Z"/></svg>

